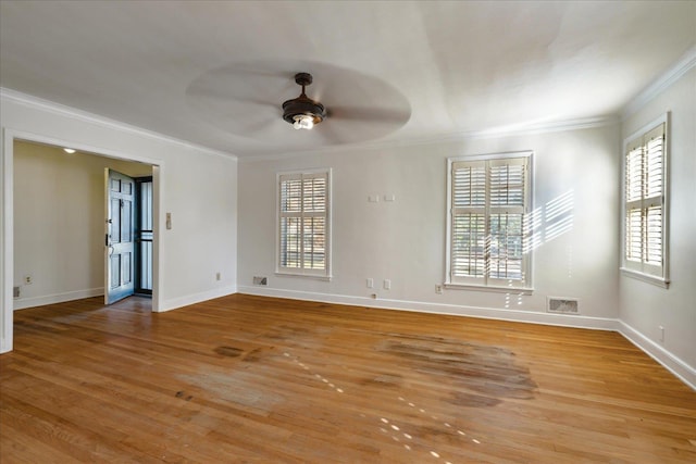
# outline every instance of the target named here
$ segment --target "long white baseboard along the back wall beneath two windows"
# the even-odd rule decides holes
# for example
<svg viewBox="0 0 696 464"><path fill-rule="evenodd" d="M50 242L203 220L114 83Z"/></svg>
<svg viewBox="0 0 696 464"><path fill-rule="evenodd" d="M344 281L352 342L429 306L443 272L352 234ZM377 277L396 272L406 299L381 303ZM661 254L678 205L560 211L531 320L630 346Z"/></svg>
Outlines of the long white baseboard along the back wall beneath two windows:
<svg viewBox="0 0 696 464"><path fill-rule="evenodd" d="M324 303L346 304L350 306L380 308L384 310L415 311L420 313L446 314L519 323L555 325L562 327L592 328L597 330L618 330L618 321L606 317L588 317L570 314L550 314L543 312L513 311L495 308L478 308L457 304L430 303L422 301L405 301L351 297L344 294L312 293L297 290L283 290L259 286L239 286L239 293L262 297L289 298L294 300L319 301Z"/></svg>

